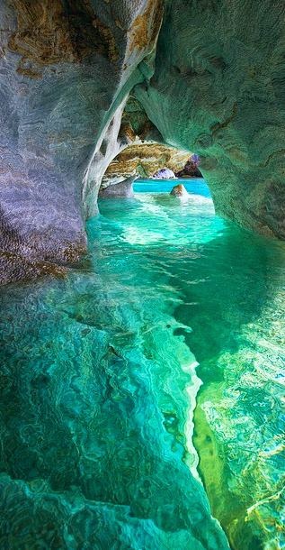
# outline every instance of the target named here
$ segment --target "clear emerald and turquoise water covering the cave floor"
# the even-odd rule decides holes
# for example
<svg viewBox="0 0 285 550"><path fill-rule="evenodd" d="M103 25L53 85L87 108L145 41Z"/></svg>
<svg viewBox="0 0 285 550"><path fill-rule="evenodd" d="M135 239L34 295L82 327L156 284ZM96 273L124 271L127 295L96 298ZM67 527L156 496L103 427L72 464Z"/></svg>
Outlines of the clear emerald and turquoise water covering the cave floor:
<svg viewBox="0 0 285 550"><path fill-rule="evenodd" d="M198 191L102 200L84 266L0 290L1 549L284 547L285 247Z"/></svg>

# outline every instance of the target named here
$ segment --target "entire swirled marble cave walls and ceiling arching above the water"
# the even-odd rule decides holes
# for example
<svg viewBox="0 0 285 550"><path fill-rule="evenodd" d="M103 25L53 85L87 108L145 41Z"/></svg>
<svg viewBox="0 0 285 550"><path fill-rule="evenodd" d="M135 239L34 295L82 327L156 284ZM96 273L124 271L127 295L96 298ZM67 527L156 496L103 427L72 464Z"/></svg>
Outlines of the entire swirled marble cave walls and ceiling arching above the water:
<svg viewBox="0 0 285 550"><path fill-rule="evenodd" d="M198 152L218 214L285 238L281 0L3 0L0 22L4 280L76 261L137 138Z"/></svg>

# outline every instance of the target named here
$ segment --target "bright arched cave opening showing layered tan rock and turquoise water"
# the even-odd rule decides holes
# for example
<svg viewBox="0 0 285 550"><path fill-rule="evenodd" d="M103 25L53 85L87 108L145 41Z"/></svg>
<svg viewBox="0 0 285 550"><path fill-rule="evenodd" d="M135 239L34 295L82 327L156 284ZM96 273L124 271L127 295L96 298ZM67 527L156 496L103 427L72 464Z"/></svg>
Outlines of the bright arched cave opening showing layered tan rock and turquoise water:
<svg viewBox="0 0 285 550"><path fill-rule="evenodd" d="M119 238L139 250L143 246L146 253L148 247L183 251L189 242L208 242L223 225L198 156L157 142L131 144L111 161L98 207L112 240ZM95 226L97 234L96 220Z"/></svg>

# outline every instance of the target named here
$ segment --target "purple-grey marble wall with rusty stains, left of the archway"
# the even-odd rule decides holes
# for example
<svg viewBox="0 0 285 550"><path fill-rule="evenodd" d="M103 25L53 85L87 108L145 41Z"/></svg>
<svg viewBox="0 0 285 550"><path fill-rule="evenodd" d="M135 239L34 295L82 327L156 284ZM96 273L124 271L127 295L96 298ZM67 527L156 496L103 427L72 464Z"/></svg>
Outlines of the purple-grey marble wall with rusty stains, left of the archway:
<svg viewBox="0 0 285 550"><path fill-rule="evenodd" d="M148 33L129 50L146 10L158 31L147 0L1 2L0 250L22 265L65 264L85 250L102 175L129 142L118 137L123 105L154 48Z"/></svg>

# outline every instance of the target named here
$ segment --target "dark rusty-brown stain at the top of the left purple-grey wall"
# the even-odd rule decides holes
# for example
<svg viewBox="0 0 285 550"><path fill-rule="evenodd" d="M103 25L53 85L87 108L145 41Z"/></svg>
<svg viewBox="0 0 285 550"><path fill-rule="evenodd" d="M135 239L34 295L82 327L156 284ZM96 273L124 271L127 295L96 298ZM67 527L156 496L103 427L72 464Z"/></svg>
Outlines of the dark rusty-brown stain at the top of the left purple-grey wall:
<svg viewBox="0 0 285 550"><path fill-rule="evenodd" d="M24 60L73 63L96 50L102 55L111 50L111 32L95 16L89 0L70 0L66 5L61 0L13 0L12 5L17 28L8 46Z"/></svg>

